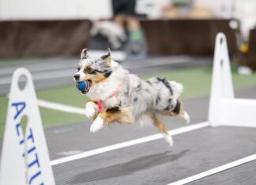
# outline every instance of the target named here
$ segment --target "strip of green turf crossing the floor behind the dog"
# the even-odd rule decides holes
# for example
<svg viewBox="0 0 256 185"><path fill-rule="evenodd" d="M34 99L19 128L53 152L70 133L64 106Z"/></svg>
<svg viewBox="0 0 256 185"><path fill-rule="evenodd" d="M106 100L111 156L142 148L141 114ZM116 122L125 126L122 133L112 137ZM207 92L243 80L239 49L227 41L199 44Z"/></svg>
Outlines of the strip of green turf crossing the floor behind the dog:
<svg viewBox="0 0 256 185"><path fill-rule="evenodd" d="M233 70L233 81L235 89L242 87L251 87L256 85L256 73L252 76L239 76ZM182 95L183 100L188 98L196 98L209 94L212 68L186 68L171 72L159 72L150 74L149 76L141 76L143 79L148 79L152 76L165 77L168 80L175 80L183 83L185 89ZM43 91L37 91L37 98L58 102L66 105L84 107L86 102L85 95L77 91L73 85L71 87L55 88ZM4 123L6 122L6 107L7 98L0 97L0 135L2 135ZM86 118L81 115L62 113L60 111L40 108L43 119L44 128L50 128L63 124L70 124L77 121L83 121Z"/></svg>

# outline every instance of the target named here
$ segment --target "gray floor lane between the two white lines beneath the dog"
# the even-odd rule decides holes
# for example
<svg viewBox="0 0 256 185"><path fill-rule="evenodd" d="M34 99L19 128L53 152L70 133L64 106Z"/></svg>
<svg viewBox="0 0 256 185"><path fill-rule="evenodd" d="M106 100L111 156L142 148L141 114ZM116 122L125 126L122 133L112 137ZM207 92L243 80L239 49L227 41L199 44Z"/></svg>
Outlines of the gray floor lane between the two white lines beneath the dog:
<svg viewBox="0 0 256 185"><path fill-rule="evenodd" d="M250 128L203 128L175 136L172 150L160 139L53 169L58 184L167 184L255 154L255 134Z"/></svg>

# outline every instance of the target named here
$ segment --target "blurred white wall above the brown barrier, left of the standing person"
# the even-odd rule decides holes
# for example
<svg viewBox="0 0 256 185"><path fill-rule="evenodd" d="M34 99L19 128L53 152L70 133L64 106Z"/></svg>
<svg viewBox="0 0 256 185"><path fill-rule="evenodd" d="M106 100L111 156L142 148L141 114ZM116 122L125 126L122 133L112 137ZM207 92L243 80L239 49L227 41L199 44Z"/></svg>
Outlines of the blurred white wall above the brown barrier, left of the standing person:
<svg viewBox="0 0 256 185"><path fill-rule="evenodd" d="M0 0L0 20L109 18L111 0Z"/></svg>

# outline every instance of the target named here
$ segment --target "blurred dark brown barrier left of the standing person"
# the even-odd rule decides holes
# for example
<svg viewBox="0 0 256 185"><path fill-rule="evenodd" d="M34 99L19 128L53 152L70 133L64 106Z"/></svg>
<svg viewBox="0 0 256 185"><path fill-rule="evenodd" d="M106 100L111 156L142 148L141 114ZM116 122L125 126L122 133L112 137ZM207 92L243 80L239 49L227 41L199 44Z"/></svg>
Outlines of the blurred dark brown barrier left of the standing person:
<svg viewBox="0 0 256 185"><path fill-rule="evenodd" d="M0 57L80 54L91 26L90 20L0 21Z"/></svg>

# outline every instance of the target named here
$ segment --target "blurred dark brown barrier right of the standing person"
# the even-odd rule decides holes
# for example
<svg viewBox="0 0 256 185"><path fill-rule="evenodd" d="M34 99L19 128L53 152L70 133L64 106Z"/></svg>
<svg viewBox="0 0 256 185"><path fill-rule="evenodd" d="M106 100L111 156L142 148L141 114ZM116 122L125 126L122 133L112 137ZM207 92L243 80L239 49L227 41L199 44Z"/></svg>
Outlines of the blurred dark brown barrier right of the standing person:
<svg viewBox="0 0 256 185"><path fill-rule="evenodd" d="M141 20L141 27L149 55L213 56L215 37L220 31L227 36L229 54L238 52L238 20Z"/></svg>

